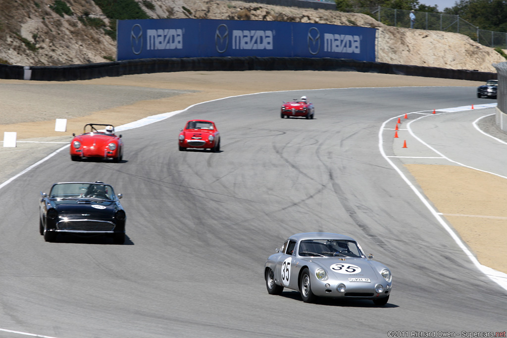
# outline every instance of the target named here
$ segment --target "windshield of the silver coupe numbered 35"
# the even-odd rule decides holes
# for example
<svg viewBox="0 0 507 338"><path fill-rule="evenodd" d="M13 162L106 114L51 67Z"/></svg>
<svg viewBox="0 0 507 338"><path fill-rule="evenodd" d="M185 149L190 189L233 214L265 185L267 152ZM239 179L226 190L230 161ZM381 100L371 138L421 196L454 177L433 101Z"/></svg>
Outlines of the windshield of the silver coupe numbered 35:
<svg viewBox="0 0 507 338"><path fill-rule="evenodd" d="M301 241L299 255L310 257L364 257L363 251L356 242L336 239Z"/></svg>

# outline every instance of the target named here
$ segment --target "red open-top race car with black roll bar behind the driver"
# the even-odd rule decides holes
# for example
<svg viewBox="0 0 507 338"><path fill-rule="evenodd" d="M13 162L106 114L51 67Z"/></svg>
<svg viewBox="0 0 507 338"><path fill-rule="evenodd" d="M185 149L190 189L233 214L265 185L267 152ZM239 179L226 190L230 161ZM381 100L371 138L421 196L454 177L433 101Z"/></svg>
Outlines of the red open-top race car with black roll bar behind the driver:
<svg viewBox="0 0 507 338"><path fill-rule="evenodd" d="M105 131L99 131L100 127L105 127ZM72 136L74 139L70 143L70 159L73 161L111 158L114 162L120 162L123 158L122 135L116 136L112 125L89 123L83 128L83 134L76 136L73 133Z"/></svg>

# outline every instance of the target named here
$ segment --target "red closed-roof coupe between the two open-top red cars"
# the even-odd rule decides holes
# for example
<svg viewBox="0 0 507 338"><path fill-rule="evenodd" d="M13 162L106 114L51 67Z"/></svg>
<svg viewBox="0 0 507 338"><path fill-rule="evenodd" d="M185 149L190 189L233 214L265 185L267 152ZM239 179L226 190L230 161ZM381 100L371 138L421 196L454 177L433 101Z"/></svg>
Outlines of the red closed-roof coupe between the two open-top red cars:
<svg viewBox="0 0 507 338"><path fill-rule="evenodd" d="M179 151L187 148L210 149L211 152L220 152L220 132L211 121L191 120L185 125L185 129L179 130Z"/></svg>

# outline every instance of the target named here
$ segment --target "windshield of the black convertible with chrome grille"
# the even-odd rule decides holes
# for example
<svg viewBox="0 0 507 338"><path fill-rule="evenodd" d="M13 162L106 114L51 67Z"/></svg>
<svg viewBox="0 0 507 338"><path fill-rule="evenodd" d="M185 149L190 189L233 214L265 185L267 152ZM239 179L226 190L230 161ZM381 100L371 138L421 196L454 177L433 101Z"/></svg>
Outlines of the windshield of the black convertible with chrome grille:
<svg viewBox="0 0 507 338"><path fill-rule="evenodd" d="M97 183L59 183L53 185L50 198L97 198L114 200L115 192L113 187L107 184Z"/></svg>

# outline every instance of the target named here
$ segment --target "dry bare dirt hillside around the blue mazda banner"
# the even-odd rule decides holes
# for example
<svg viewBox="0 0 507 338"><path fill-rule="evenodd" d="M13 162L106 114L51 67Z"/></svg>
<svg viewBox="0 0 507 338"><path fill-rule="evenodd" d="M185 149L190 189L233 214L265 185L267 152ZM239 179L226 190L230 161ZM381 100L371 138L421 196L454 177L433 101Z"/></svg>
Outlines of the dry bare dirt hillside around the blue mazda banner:
<svg viewBox="0 0 507 338"><path fill-rule="evenodd" d="M70 15L58 15L54 0L22 2L0 0L0 63L16 65L68 65L107 62L116 57L116 42L104 27L89 19L105 15L90 0L66 0ZM229 0L139 0L141 8L155 19L198 18L277 20L330 23L378 29L377 61L496 71L492 63L505 59L492 48L468 37L440 31L386 26L370 16ZM149 8L147 8L148 6Z"/></svg>

